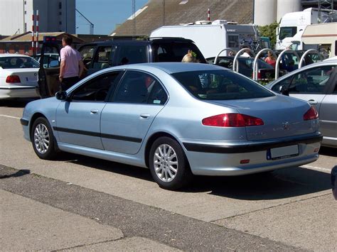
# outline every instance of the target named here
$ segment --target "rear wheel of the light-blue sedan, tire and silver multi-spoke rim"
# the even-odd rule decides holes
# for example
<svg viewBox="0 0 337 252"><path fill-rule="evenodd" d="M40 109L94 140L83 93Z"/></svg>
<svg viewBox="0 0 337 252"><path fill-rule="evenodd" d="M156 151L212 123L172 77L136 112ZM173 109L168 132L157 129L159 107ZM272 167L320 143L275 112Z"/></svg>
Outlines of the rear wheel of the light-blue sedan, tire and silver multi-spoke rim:
<svg viewBox="0 0 337 252"><path fill-rule="evenodd" d="M160 137L154 141L149 153L151 175L166 190L178 190L193 179L181 145L169 137Z"/></svg>

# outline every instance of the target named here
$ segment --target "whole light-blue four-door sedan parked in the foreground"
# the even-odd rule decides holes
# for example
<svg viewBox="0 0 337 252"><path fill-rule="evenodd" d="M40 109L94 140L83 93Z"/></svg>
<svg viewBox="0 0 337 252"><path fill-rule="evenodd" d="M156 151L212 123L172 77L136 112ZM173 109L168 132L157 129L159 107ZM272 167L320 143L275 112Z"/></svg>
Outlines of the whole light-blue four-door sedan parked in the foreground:
<svg viewBox="0 0 337 252"><path fill-rule="evenodd" d="M39 158L58 150L150 168L176 190L193 175L245 175L319 158L308 102L223 67L148 63L101 70L27 104L24 136Z"/></svg>

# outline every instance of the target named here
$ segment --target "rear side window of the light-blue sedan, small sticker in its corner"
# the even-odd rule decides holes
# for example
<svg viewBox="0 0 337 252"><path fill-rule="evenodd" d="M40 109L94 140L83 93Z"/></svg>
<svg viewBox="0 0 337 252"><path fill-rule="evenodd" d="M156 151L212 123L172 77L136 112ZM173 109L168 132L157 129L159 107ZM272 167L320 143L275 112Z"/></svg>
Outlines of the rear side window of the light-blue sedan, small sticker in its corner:
<svg viewBox="0 0 337 252"><path fill-rule="evenodd" d="M167 94L158 80L144 72L125 74L114 95L114 102L163 105Z"/></svg>

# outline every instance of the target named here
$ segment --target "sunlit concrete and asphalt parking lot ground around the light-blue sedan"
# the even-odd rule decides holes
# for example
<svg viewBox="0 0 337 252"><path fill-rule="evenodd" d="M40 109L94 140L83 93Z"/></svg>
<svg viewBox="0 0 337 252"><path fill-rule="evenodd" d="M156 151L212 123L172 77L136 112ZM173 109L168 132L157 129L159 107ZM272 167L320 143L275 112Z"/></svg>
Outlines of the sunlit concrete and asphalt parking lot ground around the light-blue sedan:
<svg viewBox="0 0 337 252"><path fill-rule="evenodd" d="M333 148L321 148L319 160L302 167L242 177L196 177L188 189L171 192L161 190L143 168L68 153L53 161L40 160L23 139L19 119L26 102L0 103L0 195L6 202L1 212L8 213L1 217L1 227L11 229L11 221L15 223L12 232L0 237L7 248L20 244L16 250L90 250L114 244L130 251L156 246L166 251L337 249L337 204L330 185L330 172L337 164ZM20 212L25 213L20 204L38 209L41 221L46 213L59 214L58 225L65 226L68 241L21 247L28 240L15 240L17 234L26 234L14 235L16 229L25 229L25 224L15 222ZM81 223L78 234L93 232L93 241L65 235L72 231L72 221ZM29 221L26 226L31 226ZM41 239L48 239L53 231L44 229L31 239L41 234ZM100 235L105 229L112 230L111 236ZM126 245L134 243L142 245Z"/></svg>

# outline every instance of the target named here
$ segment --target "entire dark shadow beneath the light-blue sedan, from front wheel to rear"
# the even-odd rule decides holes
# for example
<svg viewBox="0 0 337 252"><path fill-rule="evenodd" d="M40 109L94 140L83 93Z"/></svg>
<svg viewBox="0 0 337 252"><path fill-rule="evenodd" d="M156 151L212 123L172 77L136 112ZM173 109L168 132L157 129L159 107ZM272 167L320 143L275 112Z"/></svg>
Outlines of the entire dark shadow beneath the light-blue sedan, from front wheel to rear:
<svg viewBox="0 0 337 252"><path fill-rule="evenodd" d="M59 160L61 159L93 169L154 182L149 169L145 168L68 153L65 153ZM330 189L330 174L294 167L235 177L196 176L192 184L180 192L208 192L210 195L233 199L268 200L309 195ZM158 190L162 189L158 188Z"/></svg>

